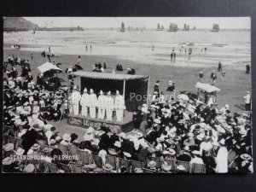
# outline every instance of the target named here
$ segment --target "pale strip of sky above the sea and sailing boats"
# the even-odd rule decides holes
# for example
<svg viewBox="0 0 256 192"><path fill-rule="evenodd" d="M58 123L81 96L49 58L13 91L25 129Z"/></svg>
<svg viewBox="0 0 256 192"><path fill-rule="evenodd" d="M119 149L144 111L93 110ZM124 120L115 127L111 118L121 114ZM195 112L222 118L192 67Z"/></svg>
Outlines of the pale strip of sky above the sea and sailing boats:
<svg viewBox="0 0 256 192"><path fill-rule="evenodd" d="M218 23L220 28L250 29L250 17L24 17L38 26L81 26L84 28L119 27L124 21L125 27L156 28L157 24L167 28L171 22L182 28L186 23L192 28L212 28L212 23Z"/></svg>

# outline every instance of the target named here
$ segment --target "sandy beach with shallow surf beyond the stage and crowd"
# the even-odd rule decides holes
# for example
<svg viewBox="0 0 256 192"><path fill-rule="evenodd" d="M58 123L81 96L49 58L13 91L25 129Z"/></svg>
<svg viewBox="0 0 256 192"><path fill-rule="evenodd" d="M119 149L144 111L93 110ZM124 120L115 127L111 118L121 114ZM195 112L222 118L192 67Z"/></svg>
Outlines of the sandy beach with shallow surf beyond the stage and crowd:
<svg viewBox="0 0 256 192"><path fill-rule="evenodd" d="M49 32L37 32L34 36L30 32L19 32L20 36L17 33L4 33L3 58L7 60L8 55L20 55L21 59L28 59L35 80L39 73L38 66L48 61L47 57L41 56L41 52L48 49L50 44L52 52L61 53L60 57L51 58L55 63L61 62L60 67L63 73L58 74L61 84L67 84L66 68L76 64L79 61L78 55L81 55L80 64L84 71L91 71L92 65L96 62L103 64L106 61L108 68L105 73L111 73L116 65L121 63L124 68L122 73L125 73L126 67L132 66L137 74L149 75L150 94L153 93L156 80L160 80L160 90L163 91L166 90L168 81L172 80L176 83L177 93L181 90L196 92L195 84L199 81L200 71L204 72L204 83L212 83L210 73L212 69L217 70L218 61L221 61L226 76L222 79L221 74L217 73L216 86L221 90L218 93L218 108L228 103L231 113L243 112L242 96L245 96L247 90L251 90L251 75L245 73L246 64L251 62L250 39L247 37L247 32L242 32L243 36L241 32L233 32L234 35L231 37L229 32L219 33L220 35L199 32L201 40L191 46L193 48L191 61L188 61L178 48L189 47L188 44L192 43L192 40L189 41L188 37L193 38L193 32L191 32L192 36L188 36L186 32L181 33L183 34L162 33L164 37L161 37L156 32L151 32L152 36L149 36L150 33L143 35L142 32L134 32L128 35L131 36L130 38L119 32L99 32L101 35L98 36L93 32L73 32L72 35L75 38L69 37L71 34L67 32L51 32L50 35ZM216 38L214 43L212 39L208 39L209 36ZM183 40L177 39L179 37ZM236 37L240 38L236 40ZM90 38L94 41L89 40ZM152 39L148 40L148 38ZM12 44L20 44L21 49L11 49ZM87 52L84 49L86 44L89 48ZM93 44L91 53L90 44ZM152 44L155 46L154 50L151 48ZM207 46L207 53L201 52L205 46ZM170 61L172 48L177 52L175 63ZM30 54L34 55L33 61ZM17 66L17 68L20 71L20 67ZM79 84L79 78L75 79L75 84ZM52 124L56 125L61 133L76 132L84 135L85 132L83 128L67 125L67 119Z"/></svg>

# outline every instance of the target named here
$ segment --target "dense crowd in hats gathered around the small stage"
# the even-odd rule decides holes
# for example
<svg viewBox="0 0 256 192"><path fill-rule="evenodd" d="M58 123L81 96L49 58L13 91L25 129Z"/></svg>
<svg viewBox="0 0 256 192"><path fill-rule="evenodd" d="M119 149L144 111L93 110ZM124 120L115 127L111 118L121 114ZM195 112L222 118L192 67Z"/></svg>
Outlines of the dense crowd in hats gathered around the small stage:
<svg viewBox="0 0 256 192"><path fill-rule="evenodd" d="M232 113L228 104L216 108L183 94L166 101L158 81L154 100L133 113L133 131L89 127L78 142L77 134L51 125L67 110L67 87L53 91L43 79L32 83L29 73L27 84L20 77L13 70L3 81L3 172L52 172L49 165L55 172L253 172L249 92L245 112ZM73 147L72 160L61 156Z"/></svg>

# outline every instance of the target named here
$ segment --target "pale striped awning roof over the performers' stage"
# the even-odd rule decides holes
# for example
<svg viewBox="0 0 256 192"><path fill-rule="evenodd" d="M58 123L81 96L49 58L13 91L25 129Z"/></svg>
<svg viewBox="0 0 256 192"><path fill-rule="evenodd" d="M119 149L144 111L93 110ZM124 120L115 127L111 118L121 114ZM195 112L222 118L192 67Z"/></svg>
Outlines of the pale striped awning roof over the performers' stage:
<svg viewBox="0 0 256 192"><path fill-rule="evenodd" d="M116 74L116 73L96 73L96 72L84 72L77 71L70 73L74 76L90 79L113 79L113 80L131 80L131 79L145 79L148 76L143 75L131 75L131 74Z"/></svg>

